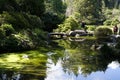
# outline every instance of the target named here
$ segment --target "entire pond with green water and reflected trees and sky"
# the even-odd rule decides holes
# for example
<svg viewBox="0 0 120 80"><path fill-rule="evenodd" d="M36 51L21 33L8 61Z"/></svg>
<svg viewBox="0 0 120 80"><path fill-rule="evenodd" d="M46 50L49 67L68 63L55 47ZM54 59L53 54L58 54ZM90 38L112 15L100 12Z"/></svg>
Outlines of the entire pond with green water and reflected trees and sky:
<svg viewBox="0 0 120 80"><path fill-rule="evenodd" d="M55 40L37 50L0 55L0 80L120 80L120 54L96 41Z"/></svg>

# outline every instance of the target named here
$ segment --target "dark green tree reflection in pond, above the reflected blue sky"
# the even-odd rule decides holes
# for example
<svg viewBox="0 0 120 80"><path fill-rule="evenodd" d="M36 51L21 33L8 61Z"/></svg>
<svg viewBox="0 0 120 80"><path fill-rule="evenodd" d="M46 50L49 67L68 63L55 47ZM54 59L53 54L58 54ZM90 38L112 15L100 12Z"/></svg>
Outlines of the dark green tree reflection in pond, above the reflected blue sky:
<svg viewBox="0 0 120 80"><path fill-rule="evenodd" d="M96 71L105 71L112 61L120 61L120 55L111 47L104 45L100 51L92 51L90 47L95 41L88 40L85 42L67 42L62 41L60 44L67 49L69 58L63 59L65 72L78 75L88 75ZM65 56L66 57L66 56Z"/></svg>

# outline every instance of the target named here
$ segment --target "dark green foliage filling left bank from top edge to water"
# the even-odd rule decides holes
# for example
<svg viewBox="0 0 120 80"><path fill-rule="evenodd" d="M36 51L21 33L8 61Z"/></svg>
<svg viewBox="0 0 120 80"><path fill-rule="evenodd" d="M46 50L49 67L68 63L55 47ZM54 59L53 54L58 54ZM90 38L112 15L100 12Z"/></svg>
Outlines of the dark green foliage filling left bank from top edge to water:
<svg viewBox="0 0 120 80"><path fill-rule="evenodd" d="M37 43L45 39L40 19L44 11L44 0L0 0L0 51L18 51L39 45Z"/></svg>

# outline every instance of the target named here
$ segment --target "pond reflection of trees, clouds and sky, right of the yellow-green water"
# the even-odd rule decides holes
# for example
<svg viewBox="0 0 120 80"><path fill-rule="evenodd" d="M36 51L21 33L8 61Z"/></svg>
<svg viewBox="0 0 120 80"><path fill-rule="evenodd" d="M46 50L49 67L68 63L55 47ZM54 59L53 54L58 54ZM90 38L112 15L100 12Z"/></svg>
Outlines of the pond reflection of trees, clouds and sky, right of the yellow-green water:
<svg viewBox="0 0 120 80"><path fill-rule="evenodd" d="M119 51L103 44L99 51L91 50L95 41L60 41L64 56L56 64L50 60L46 80L120 80ZM117 78L116 78L117 77Z"/></svg>

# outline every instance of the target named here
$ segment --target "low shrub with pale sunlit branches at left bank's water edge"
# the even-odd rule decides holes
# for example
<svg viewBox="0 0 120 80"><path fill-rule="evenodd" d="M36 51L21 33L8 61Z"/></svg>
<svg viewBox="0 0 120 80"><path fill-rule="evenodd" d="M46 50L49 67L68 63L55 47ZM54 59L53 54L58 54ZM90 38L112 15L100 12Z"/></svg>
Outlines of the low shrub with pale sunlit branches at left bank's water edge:
<svg viewBox="0 0 120 80"><path fill-rule="evenodd" d="M16 48L16 50L30 49L34 46L31 39L27 35L21 33L11 35L6 39L5 45L7 47L11 46L11 50L14 50L14 48Z"/></svg>

